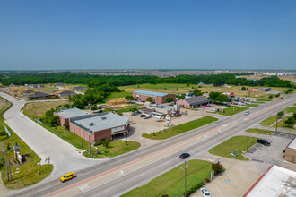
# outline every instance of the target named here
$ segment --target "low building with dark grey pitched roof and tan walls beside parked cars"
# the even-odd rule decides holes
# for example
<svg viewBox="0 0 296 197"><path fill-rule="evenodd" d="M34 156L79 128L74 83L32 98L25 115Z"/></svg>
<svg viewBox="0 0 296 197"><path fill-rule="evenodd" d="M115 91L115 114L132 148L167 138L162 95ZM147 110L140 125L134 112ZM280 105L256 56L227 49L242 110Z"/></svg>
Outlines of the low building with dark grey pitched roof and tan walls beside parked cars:
<svg viewBox="0 0 296 197"><path fill-rule="evenodd" d="M213 100L207 99L205 96L198 96L193 98L179 99L177 101L178 107L196 108L213 103Z"/></svg>

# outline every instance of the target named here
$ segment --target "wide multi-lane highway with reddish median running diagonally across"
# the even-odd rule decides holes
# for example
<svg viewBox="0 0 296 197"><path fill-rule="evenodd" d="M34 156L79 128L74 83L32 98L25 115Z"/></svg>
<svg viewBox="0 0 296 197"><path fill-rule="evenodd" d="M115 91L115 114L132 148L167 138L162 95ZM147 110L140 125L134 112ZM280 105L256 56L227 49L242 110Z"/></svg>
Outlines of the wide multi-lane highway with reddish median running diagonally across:
<svg viewBox="0 0 296 197"><path fill-rule="evenodd" d="M13 105L14 102L17 103L17 101L13 101ZM74 164L80 166L83 163L82 167L76 167L79 168L75 171L78 175L76 179L61 184L56 176L56 178L46 178L39 184L12 191L9 195L118 196L181 164L182 160L178 158L180 153L189 152L193 156L192 158L198 158L200 153L233 135L244 134L248 127L254 126L267 116L273 115L293 103L295 103L295 96L289 95L283 100L277 99L250 109L248 116L245 116L244 113L227 116L213 124L207 124L116 158L93 161L71 153L74 160L67 160L69 164L68 162L64 163L65 168L69 169ZM20 116L20 112L11 111L12 108L6 112L7 114L11 113L9 117ZM6 113L4 117L6 117ZM13 124L13 121L11 120L9 123ZM69 149L68 151L75 150ZM58 171L61 169L59 165L55 167L58 168L56 169Z"/></svg>

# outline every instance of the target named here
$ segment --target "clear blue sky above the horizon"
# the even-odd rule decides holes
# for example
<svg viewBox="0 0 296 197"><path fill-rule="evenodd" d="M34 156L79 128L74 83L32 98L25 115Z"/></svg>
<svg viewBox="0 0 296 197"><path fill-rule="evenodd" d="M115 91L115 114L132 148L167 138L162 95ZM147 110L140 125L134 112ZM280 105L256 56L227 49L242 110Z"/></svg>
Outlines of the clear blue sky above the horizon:
<svg viewBox="0 0 296 197"><path fill-rule="evenodd" d="M0 0L0 70L295 64L294 0Z"/></svg>

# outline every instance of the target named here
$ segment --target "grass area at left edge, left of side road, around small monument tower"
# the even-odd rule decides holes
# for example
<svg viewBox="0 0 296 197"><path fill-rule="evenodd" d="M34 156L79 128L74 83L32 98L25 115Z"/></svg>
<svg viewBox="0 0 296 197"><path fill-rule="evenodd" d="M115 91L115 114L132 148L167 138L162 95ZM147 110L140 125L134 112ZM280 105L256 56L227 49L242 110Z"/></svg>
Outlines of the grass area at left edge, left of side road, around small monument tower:
<svg viewBox="0 0 296 197"><path fill-rule="evenodd" d="M2 108L0 112L0 128L1 131L4 131L4 118L2 116L2 113L4 112L4 109L10 107L12 104L9 102L6 102L6 106ZM2 136L0 138L0 147L6 147L7 150L7 158L13 158L14 151L13 146L15 144L15 141L17 141L18 145L21 146L21 153L22 154L29 154L30 161L28 163L23 164L19 167L11 167L13 181L8 182L6 179L6 167L5 165L2 166L1 162L4 163L4 157L1 157L0 162L0 171L1 171L1 177L3 180L4 185L8 189L20 189L25 186L29 186L31 184L36 184L43 178L47 177L50 172L53 169L53 165L47 164L47 165L37 165L40 158L36 153L30 149L30 147L22 141L21 138L19 138L18 135L13 133L13 131L7 126L7 128L10 130L10 133L12 134L10 137L6 135L5 137ZM7 149L9 147L9 149ZM39 172L39 173L38 173Z"/></svg>

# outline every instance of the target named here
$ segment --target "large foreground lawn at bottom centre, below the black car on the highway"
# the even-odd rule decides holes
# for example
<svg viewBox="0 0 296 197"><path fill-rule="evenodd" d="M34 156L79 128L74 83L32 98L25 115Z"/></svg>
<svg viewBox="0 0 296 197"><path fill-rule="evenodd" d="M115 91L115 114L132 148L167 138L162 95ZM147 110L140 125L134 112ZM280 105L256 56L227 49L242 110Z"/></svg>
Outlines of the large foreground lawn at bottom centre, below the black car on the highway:
<svg viewBox="0 0 296 197"><path fill-rule="evenodd" d="M210 177L212 163L204 160L188 160L187 165L187 189L204 181L205 177ZM182 196L184 194L184 164L153 178L148 184L137 187L123 194L122 197L151 197L161 196L164 193L169 196Z"/></svg>

